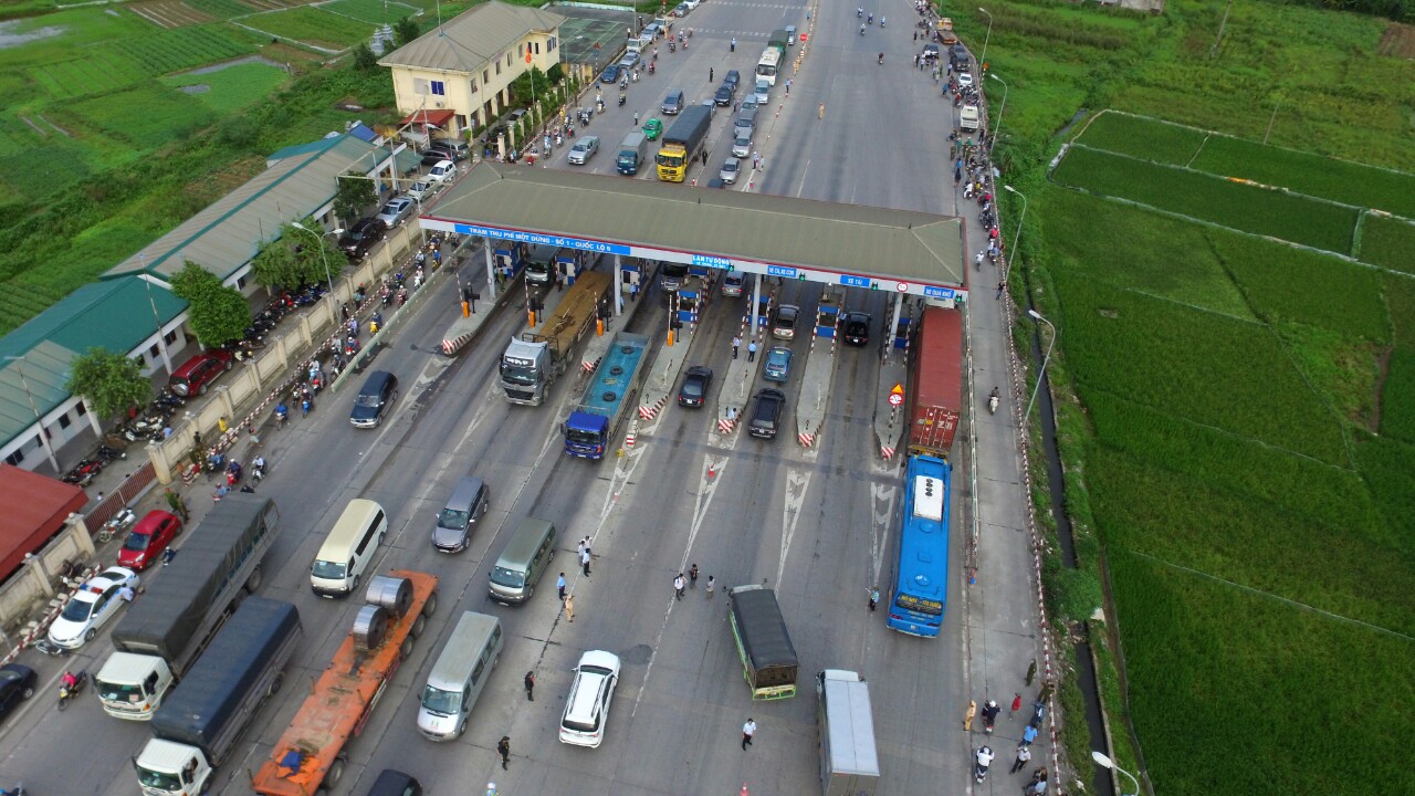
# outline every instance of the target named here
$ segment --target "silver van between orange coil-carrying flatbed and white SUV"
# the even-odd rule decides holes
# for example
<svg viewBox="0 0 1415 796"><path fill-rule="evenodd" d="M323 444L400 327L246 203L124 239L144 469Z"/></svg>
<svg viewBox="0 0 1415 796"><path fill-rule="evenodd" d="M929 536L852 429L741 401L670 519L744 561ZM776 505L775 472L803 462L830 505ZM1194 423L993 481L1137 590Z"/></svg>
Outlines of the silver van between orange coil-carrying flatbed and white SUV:
<svg viewBox="0 0 1415 796"><path fill-rule="evenodd" d="M467 729L471 705L501 660L504 643L499 619L475 610L461 615L427 674L417 708L419 732L433 741L451 741Z"/></svg>

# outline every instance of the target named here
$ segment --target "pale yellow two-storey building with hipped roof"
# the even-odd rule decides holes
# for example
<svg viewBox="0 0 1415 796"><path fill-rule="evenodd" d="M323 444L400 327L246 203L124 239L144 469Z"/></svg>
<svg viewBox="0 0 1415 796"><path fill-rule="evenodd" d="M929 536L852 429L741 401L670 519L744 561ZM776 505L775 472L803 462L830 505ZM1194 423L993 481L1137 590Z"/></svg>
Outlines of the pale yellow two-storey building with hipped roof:
<svg viewBox="0 0 1415 796"><path fill-rule="evenodd" d="M495 120L511 84L531 68L560 61L565 17L539 8L483 3L385 55L398 110L447 133Z"/></svg>

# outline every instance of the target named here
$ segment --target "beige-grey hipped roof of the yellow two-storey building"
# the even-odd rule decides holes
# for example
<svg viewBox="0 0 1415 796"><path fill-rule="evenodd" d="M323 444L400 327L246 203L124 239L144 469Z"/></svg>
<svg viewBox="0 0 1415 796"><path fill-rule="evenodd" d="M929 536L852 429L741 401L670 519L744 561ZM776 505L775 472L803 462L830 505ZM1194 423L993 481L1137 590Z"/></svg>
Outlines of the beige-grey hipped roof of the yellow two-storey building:
<svg viewBox="0 0 1415 796"><path fill-rule="evenodd" d="M381 67L477 72L529 33L552 33L565 17L490 0L379 59Z"/></svg>

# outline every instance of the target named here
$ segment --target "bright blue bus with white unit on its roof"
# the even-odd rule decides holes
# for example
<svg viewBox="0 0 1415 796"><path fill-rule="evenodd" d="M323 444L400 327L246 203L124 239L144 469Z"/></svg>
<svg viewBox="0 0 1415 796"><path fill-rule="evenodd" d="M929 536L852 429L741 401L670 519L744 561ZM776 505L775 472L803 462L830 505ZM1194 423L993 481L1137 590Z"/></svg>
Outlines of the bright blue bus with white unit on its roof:
<svg viewBox="0 0 1415 796"><path fill-rule="evenodd" d="M899 567L890 595L889 626L934 637L948 602L948 463L910 456L904 470L904 520Z"/></svg>

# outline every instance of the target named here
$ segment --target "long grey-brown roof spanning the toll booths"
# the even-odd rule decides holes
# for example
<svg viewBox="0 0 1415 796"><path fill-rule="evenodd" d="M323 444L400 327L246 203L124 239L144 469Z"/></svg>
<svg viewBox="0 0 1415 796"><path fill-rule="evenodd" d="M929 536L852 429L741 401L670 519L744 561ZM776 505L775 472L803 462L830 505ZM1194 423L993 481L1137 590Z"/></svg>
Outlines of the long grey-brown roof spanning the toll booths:
<svg viewBox="0 0 1415 796"><path fill-rule="evenodd" d="M424 218L964 286L962 220L481 161Z"/></svg>

